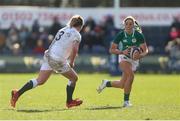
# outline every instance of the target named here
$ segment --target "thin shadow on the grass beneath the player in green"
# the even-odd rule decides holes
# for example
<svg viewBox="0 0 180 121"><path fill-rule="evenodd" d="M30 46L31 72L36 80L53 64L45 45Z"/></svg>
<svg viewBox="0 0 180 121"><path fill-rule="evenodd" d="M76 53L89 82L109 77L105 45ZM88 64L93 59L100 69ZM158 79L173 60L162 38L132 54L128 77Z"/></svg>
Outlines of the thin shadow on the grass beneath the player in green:
<svg viewBox="0 0 180 121"><path fill-rule="evenodd" d="M99 106L99 107L91 107L86 108L86 110L109 110L109 109L122 109L122 106Z"/></svg>

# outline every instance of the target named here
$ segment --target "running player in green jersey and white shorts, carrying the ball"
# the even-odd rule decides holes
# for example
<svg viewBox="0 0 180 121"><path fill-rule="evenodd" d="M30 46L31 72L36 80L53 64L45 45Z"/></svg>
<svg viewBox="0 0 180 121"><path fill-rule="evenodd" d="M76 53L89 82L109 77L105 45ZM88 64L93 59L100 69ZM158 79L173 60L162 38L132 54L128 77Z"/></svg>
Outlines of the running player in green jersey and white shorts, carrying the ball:
<svg viewBox="0 0 180 121"><path fill-rule="evenodd" d="M134 72L139 65L139 59L143 58L148 53L148 48L138 23L132 17L128 16L124 19L124 29L119 32L113 40L109 49L111 54L119 56L119 67L122 70L122 77L118 81L102 80L97 91L100 93L105 87L114 87L124 89L124 104L123 107L132 106L129 101L132 83L134 80ZM132 47L138 47L139 53L136 53L133 58L129 57L129 50Z"/></svg>

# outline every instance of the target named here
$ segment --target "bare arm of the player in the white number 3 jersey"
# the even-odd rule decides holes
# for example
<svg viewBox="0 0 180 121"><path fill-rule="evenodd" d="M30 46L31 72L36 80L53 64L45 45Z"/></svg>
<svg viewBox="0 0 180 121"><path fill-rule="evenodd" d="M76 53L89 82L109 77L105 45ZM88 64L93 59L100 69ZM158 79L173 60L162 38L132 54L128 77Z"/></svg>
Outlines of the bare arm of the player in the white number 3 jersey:
<svg viewBox="0 0 180 121"><path fill-rule="evenodd" d="M74 41L73 43L73 49L72 49L72 52L71 52L71 55L69 57L70 59L70 66L71 67L74 67L74 61L75 61L75 58L77 56L77 53L79 51L79 42L78 41Z"/></svg>

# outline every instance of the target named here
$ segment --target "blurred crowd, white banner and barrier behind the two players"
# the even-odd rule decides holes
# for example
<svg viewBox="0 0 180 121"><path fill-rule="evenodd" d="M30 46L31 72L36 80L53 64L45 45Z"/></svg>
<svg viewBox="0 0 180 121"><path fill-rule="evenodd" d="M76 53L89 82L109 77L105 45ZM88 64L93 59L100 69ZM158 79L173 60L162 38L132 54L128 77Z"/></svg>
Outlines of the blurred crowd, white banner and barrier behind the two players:
<svg viewBox="0 0 180 121"><path fill-rule="evenodd" d="M85 19L77 71L121 73L108 49L131 15L150 51L138 72L180 72L180 0L1 0L0 72L37 72L56 32L74 14Z"/></svg>

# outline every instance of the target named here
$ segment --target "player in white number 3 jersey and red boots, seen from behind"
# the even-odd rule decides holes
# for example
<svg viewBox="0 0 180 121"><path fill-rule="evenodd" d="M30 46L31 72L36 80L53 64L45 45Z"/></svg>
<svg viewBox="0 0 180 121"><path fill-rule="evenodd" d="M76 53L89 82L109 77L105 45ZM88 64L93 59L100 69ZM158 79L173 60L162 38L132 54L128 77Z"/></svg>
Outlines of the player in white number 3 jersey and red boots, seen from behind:
<svg viewBox="0 0 180 121"><path fill-rule="evenodd" d="M78 75L74 71L74 61L79 49L81 41L80 30L84 24L81 16L73 16L66 27L60 29L49 49L45 51L44 61L41 65L39 75L36 79L31 79L21 89L12 90L11 106L15 107L19 97L26 91L33 89L39 85L43 85L53 71L62 74L69 79L66 87L67 100L66 106L71 108L82 104L82 100L73 99L73 92L78 80Z"/></svg>

